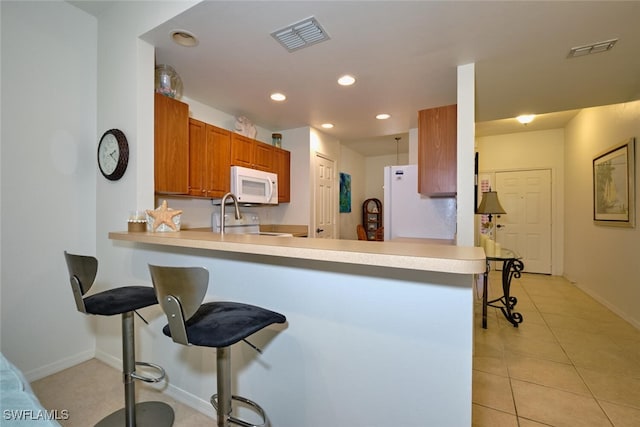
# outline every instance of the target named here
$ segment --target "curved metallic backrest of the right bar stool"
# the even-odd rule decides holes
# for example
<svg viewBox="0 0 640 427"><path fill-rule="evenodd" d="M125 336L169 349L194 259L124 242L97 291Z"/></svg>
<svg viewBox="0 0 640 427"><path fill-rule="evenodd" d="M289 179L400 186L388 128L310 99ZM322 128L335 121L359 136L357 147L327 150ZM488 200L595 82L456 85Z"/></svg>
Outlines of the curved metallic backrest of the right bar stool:
<svg viewBox="0 0 640 427"><path fill-rule="evenodd" d="M202 304L209 287L209 271L204 267L149 265L158 302L167 316L174 342L189 345L185 322Z"/></svg>

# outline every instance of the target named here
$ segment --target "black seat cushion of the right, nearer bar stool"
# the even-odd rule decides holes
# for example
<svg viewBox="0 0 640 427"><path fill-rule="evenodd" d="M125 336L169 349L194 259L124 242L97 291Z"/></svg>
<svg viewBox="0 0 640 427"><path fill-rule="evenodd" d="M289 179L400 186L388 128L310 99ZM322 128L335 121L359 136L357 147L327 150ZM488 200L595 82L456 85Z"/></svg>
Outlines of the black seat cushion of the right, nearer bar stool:
<svg viewBox="0 0 640 427"><path fill-rule="evenodd" d="M227 347L272 323L284 323L280 313L237 302L202 304L186 322L189 343L202 347ZM162 332L171 336L169 325Z"/></svg>

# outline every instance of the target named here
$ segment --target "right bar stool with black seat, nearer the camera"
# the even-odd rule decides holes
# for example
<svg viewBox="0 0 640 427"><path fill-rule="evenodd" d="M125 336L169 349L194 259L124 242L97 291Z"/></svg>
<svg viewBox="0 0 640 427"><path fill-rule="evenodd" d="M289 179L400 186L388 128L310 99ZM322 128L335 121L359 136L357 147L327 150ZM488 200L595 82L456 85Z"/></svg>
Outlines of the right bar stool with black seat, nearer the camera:
<svg viewBox="0 0 640 427"><path fill-rule="evenodd" d="M243 427L266 425L267 416L257 403L231 394L231 345L240 340L246 342L249 335L287 319L282 314L237 302L202 304L209 286L209 271L203 267L149 265L149 270L169 322L162 330L164 334L179 344L216 348L217 394L211 396L211 403L216 409L218 427L228 427L229 423ZM233 417L232 400L252 407L262 417L262 424Z"/></svg>

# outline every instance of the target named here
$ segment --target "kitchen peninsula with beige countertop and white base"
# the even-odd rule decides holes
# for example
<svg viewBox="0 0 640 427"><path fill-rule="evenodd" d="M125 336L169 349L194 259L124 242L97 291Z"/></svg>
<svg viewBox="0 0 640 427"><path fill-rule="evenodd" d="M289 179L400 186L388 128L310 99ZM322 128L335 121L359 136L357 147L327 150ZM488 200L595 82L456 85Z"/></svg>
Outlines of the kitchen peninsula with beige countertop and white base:
<svg viewBox="0 0 640 427"><path fill-rule="evenodd" d="M287 316L250 338L262 355L238 345L232 361L234 393L260 403L272 425L471 425L482 249L191 230L109 238L134 249L134 273L149 282L149 263L203 265L208 298ZM152 348L167 370L168 394L213 414L215 355L176 349L162 326L156 316L142 352Z"/></svg>

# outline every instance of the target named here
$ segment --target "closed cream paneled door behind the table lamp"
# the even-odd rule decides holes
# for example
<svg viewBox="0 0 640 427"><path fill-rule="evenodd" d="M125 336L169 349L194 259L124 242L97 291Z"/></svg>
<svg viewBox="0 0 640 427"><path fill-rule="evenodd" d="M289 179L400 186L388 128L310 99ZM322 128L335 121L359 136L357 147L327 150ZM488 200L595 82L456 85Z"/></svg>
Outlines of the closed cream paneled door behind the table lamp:
<svg viewBox="0 0 640 427"><path fill-rule="evenodd" d="M551 170L496 172L496 241L522 256L524 271L551 274Z"/></svg>

